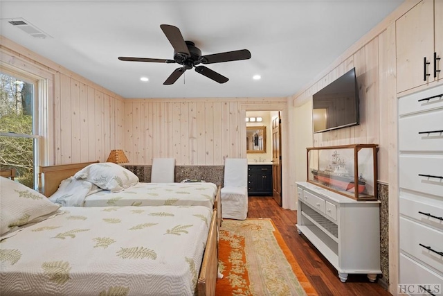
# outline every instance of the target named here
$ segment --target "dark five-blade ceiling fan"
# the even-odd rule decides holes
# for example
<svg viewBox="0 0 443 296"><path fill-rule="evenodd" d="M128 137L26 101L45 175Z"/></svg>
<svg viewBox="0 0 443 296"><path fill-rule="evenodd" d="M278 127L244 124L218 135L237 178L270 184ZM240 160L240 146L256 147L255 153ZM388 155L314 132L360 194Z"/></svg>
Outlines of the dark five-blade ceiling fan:
<svg viewBox="0 0 443 296"><path fill-rule="evenodd" d="M248 60L251 53L247 49L239 51L227 51L224 53L214 53L212 55L201 55L200 49L195 47L192 41L185 41L179 28L172 25L160 25L161 30L165 33L172 47L174 48L174 60L156 59L156 58L131 58L118 57L118 60L129 62L165 62L167 64L177 63L183 67L177 68L172 72L163 85L172 85L186 70L195 68L197 73L204 75L219 83L227 82L229 79L225 76L205 67L197 66L198 64L214 64L216 62L231 62L235 60Z"/></svg>

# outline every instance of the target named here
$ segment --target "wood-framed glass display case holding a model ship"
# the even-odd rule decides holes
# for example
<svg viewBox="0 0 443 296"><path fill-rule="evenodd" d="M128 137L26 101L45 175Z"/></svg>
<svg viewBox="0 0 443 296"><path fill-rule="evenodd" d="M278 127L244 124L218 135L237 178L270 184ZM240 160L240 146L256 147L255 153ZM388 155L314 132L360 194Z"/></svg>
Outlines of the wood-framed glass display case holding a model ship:
<svg viewBox="0 0 443 296"><path fill-rule="evenodd" d="M307 182L354 200L377 200L376 144L307 148Z"/></svg>

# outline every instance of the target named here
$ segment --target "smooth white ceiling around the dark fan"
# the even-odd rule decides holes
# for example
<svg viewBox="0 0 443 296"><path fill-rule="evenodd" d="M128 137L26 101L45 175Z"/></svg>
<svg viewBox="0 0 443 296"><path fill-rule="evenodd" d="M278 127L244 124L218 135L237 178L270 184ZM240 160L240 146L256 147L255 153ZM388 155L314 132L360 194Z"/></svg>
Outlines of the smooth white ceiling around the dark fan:
<svg viewBox="0 0 443 296"><path fill-rule="evenodd" d="M124 98L285 97L296 94L403 0L0 1L0 33ZM8 23L23 18L51 37ZM208 64L163 85L179 64L161 24L177 26L203 55L248 49L250 60ZM253 80L255 74L261 80ZM141 76L149 78L141 82Z"/></svg>

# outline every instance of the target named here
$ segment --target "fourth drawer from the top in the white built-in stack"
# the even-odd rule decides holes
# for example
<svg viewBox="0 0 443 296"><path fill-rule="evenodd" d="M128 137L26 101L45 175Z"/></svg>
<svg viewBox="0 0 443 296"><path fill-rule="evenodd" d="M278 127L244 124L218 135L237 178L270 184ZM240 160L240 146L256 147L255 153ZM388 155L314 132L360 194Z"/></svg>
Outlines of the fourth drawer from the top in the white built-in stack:
<svg viewBox="0 0 443 296"><path fill-rule="evenodd" d="M400 193L400 214L443 232L443 198L438 202L413 193Z"/></svg>

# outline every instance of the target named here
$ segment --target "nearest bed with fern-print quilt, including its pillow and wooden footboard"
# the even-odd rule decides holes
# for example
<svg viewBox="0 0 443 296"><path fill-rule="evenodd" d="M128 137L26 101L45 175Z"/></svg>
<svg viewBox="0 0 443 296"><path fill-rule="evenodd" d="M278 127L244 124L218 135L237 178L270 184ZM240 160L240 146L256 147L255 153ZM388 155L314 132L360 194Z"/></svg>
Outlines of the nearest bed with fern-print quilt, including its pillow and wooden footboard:
<svg viewBox="0 0 443 296"><path fill-rule="evenodd" d="M215 294L216 210L60 207L0 179L2 294Z"/></svg>

